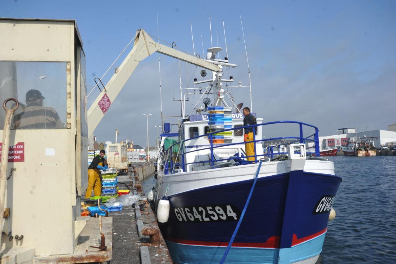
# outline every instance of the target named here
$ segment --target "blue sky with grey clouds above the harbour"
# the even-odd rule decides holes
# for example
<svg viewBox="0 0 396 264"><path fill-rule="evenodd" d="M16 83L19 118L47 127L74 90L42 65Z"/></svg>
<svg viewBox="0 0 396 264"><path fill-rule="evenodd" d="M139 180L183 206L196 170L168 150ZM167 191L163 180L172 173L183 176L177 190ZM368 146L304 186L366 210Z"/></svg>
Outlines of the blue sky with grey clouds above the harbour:
<svg viewBox="0 0 396 264"><path fill-rule="evenodd" d="M202 42L223 48L223 23L230 63L225 72L249 84L241 29L242 17L251 71L253 112L264 122L294 120L313 124L320 136L338 128L361 131L387 129L396 122L396 2L395 1L27 1L0 0L0 17L75 19L86 54L87 91L135 36L137 29L158 34L161 40L202 57ZM202 42L201 34L202 33ZM129 52L120 57L120 65ZM180 115L179 62L160 55L164 115ZM113 67L113 68L114 68ZM193 87L195 66L181 63L183 88ZM103 78L107 83L114 69ZM43 80L44 81L44 80ZM158 55L139 63L95 130L97 140L154 145L161 124ZM250 106L249 90L232 91L236 103ZM99 91L88 97L92 104ZM188 96L186 114L198 101ZM209 96L213 101L213 97ZM198 103L198 106L202 102ZM180 119L180 118L179 118ZM168 120L172 124L178 119ZM367 128L369 127L369 128ZM372 128L371 128L372 127ZM277 128L278 129L278 128ZM287 128L265 131L289 133ZM298 131L296 130L296 133Z"/></svg>

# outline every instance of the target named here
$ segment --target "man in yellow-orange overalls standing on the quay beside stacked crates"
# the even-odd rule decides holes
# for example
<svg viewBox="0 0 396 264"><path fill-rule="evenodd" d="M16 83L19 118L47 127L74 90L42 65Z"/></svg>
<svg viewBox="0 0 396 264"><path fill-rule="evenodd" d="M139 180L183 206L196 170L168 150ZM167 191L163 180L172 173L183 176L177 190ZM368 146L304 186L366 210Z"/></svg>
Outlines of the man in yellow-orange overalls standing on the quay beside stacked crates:
<svg viewBox="0 0 396 264"><path fill-rule="evenodd" d="M100 170L107 169L105 165L105 150L102 149L95 158L93 158L92 163L88 167L88 187L85 192L85 198L91 197L92 189L95 196L101 195L101 182L100 182Z"/></svg>

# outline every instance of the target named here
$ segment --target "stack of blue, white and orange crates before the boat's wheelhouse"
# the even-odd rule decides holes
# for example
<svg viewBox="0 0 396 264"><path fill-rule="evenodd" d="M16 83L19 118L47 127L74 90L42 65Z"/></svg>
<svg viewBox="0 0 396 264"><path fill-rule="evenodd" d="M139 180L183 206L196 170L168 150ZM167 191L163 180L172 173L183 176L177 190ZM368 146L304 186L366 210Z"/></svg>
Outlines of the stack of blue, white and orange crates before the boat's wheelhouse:
<svg viewBox="0 0 396 264"><path fill-rule="evenodd" d="M208 124L209 132L216 132L232 128L232 110L231 107L212 106L208 107ZM229 144L232 142L232 130L212 134L213 143ZM210 139L209 139L210 140Z"/></svg>

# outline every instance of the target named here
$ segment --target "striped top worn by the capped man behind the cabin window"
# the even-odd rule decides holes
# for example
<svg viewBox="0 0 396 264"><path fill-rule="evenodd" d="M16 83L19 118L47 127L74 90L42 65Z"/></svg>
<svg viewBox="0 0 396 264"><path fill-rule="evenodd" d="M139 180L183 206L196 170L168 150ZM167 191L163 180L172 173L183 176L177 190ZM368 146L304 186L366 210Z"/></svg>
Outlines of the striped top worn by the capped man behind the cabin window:
<svg viewBox="0 0 396 264"><path fill-rule="evenodd" d="M64 128L56 110L42 105L27 106L14 115L13 121L15 129Z"/></svg>

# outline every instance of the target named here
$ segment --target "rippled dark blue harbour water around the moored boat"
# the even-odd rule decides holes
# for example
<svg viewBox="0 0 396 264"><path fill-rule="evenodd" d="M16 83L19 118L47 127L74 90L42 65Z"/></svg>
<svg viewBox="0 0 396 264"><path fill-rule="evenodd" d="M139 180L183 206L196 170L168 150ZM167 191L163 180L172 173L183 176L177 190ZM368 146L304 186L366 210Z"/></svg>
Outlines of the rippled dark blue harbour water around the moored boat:
<svg viewBox="0 0 396 264"><path fill-rule="evenodd" d="M396 157L327 158L343 182L318 263L396 263Z"/></svg>

